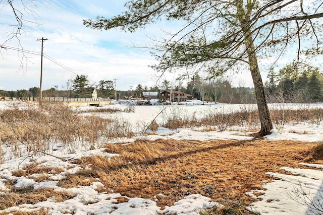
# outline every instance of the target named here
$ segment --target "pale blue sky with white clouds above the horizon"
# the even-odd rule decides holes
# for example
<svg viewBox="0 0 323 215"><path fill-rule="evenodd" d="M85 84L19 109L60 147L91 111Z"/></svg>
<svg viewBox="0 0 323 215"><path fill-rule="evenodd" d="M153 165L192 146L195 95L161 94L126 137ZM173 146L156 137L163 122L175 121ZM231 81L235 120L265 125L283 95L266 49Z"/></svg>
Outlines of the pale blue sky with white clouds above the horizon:
<svg viewBox="0 0 323 215"><path fill-rule="evenodd" d="M19 4L20 1L14 1ZM87 75L91 83L100 80L117 79L117 90L128 90L129 86L141 84L153 86L156 84L155 73L148 65L155 59L148 50L131 48L132 44L141 45L150 42L149 38L160 38L164 31L176 31L179 22L158 22L135 33L125 33L119 30L98 31L86 28L83 19L96 16L110 18L124 11L125 0L94 0L94 1L60 1L43 0L33 7L34 17L24 12L26 23L24 31L19 36L24 49L40 52L41 43L36 41L41 37L48 38L44 42L44 53L63 63L79 75ZM16 7L20 7L16 5ZM0 44L13 30L16 23L10 7L0 8ZM149 37L149 38L148 38ZM17 47L18 40L12 39L5 45ZM28 61L24 70L19 70L20 60L17 51L1 50L0 53L0 89L17 90L39 87L40 56L26 53ZM272 59L260 60L261 75L266 79L266 68ZM290 59L281 59L281 64L289 63ZM180 72L179 72L180 73ZM175 80L178 74L167 74L166 79ZM244 86L252 87L250 71L244 69L240 74L232 75L235 86L243 82ZM75 74L44 58L43 89L58 85L64 89L68 79L74 79ZM175 78L174 78L175 77ZM162 78L164 79L164 78ZM174 83L175 84L175 83ZM175 84L176 85L176 84Z"/></svg>

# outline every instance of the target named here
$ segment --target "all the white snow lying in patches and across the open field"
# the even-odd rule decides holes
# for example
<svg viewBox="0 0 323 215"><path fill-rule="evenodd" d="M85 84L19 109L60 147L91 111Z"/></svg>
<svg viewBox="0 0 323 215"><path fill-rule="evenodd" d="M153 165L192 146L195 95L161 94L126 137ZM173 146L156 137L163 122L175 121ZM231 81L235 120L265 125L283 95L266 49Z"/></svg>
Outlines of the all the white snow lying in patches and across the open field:
<svg viewBox="0 0 323 215"><path fill-rule="evenodd" d="M180 113L187 116L193 114L198 118L209 111L223 111L231 112L239 109L252 110L255 105L228 105L228 104L210 104L200 105L200 103L193 102L194 105L176 105L165 106L166 109L160 114L156 121L158 123L165 120L163 114ZM17 102L19 108L26 108L25 103ZM109 107L123 109L127 106L126 102L112 103ZM270 104L270 108L299 108L304 104ZM311 104L313 108L322 107L321 104ZM0 102L0 110L13 107L12 102ZM130 119L131 126L136 131L137 136L133 138L118 138L111 140L111 143L116 142L133 142L136 139L155 140L163 139L189 139L208 141L212 139L234 139L234 140L250 140L253 137L247 136L245 127L231 126L226 131L201 131L203 128L181 128L170 130L168 128L159 127L153 135L140 135L140 130L145 125L151 122L164 108L160 105L152 106L135 106L134 113L95 113L83 115L99 115L101 117L121 117ZM35 107L37 108L37 107ZM81 109L91 109L96 107L84 107ZM175 110L174 110L175 109ZM310 142L323 141L323 127L321 124L311 124L308 122L299 122L294 124L285 124L273 129L272 134L265 136L266 140L299 140ZM25 146L21 145L23 149ZM82 168L73 164L70 161L81 157L91 157L93 155L101 155L106 158L118 156L117 154L109 154L104 152L104 148L96 150L89 149L89 146L82 146L75 149L73 154L69 154L67 150L60 145L52 147L50 155L31 156L30 154L23 154L20 158L11 159L11 146L4 144L2 150L4 152L5 162L0 164L0 193L6 194L9 192L6 182L8 180L16 181L15 187L23 188L32 186L34 190L39 188L52 188L57 191L64 191L73 194L75 197L63 201L56 202L55 198L48 198L36 204L21 204L19 206L4 208L0 213L10 213L13 211L34 211L40 208L48 208L50 214L198 214L199 209L212 208L218 205L217 202L210 201L209 198L201 196L196 193L186 196L182 200L175 202L174 205L169 205L161 210L157 206L155 199L145 199L140 196L129 198L128 202L116 203L116 199L121 197L119 193L98 193L95 189L103 186L97 178L90 186L79 186L77 188L62 188L57 186L60 180L66 177L67 174L73 174ZM23 150L22 150L23 151ZM31 159L32 157L32 159ZM40 163L41 167L60 167L64 169L60 174L48 173L48 181L36 182L39 175L31 175L28 177L17 177L12 174L18 168L23 168L30 165L32 162ZM270 183L264 181L262 187L265 190L255 190L262 192L260 196L254 196L253 192L246 193L251 198L257 198L260 201L254 202L249 209L258 214L323 214L323 165L302 164L304 168L293 169L290 167L281 167L290 174L278 174L267 172L266 174L278 178ZM314 169L306 169L311 167ZM90 167L88 167L90 168ZM297 196L301 193L301 196ZM160 193L159 195L164 195ZM91 202L91 203L89 203ZM317 209L315 207L319 208ZM66 212L69 213L66 213Z"/></svg>

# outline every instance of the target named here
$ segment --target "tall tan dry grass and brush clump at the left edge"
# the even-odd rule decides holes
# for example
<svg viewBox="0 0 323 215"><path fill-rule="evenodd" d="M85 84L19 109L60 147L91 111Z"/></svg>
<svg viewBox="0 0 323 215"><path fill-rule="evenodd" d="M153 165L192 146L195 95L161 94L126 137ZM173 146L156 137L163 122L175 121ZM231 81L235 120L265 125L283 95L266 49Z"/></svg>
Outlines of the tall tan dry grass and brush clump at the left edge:
<svg viewBox="0 0 323 215"><path fill-rule="evenodd" d="M46 103L41 108L1 111L0 128L0 163L26 153L51 153L55 145L74 152L80 146L134 135L125 119L83 117L65 104Z"/></svg>

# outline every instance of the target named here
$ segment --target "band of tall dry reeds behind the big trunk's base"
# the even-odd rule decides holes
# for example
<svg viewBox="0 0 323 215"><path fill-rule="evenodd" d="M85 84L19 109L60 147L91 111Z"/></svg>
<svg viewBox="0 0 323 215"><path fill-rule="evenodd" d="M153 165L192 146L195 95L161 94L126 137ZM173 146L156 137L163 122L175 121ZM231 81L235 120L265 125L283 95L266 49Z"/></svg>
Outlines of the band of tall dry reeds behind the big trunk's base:
<svg viewBox="0 0 323 215"><path fill-rule="evenodd" d="M187 115L182 107L173 107L170 113L163 114L164 123L162 126L177 129L193 126L216 126L219 131L226 130L229 126L239 125L247 130L260 128L259 113L252 105L242 105L238 110L225 109L222 106L210 108L200 118L196 113ZM274 104L270 109L273 123L276 127L285 123L308 122L321 124L323 122L323 109L309 104Z"/></svg>

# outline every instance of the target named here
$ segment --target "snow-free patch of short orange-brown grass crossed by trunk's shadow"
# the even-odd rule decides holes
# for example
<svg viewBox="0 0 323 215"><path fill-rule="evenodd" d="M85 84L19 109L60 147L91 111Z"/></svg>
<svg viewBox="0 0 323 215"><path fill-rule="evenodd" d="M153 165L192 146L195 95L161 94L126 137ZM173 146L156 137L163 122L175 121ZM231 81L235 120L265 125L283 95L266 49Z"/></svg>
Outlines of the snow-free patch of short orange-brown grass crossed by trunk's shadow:
<svg viewBox="0 0 323 215"><path fill-rule="evenodd" d="M193 193L218 201L244 202L247 206L253 200L244 193L261 189L262 180L273 179L265 172L285 173L280 169L283 166L301 168L298 163L316 146L317 143L262 139L138 141L107 146L107 152L120 154L111 160L104 157L78 160L81 166L91 164L92 170L81 171L77 177L99 177L105 185L100 191L113 190L129 197L155 196L159 206L171 205Z"/></svg>

